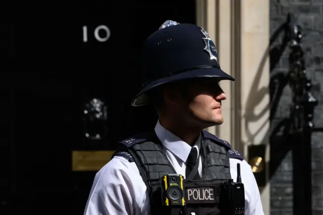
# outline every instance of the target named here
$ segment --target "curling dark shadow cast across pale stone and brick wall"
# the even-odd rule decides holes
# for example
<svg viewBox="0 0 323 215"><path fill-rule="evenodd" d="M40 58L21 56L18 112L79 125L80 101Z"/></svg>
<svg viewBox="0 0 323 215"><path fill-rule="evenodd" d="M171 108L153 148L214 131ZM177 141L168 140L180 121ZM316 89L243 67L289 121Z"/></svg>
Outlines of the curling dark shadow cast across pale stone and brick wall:
<svg viewBox="0 0 323 215"><path fill-rule="evenodd" d="M282 39L280 39L282 38ZM270 38L269 47L264 52L260 65L258 67L255 79L252 83L250 93L246 102L246 113L243 116L245 118L245 128L247 132L248 142L254 142L255 137L264 129L266 126L267 120L264 120L264 123L258 126L256 132L251 133L248 130L250 123L259 121L261 118L266 117L265 114L270 109L270 121L271 128L270 131L266 132L266 135L259 142L269 138L271 146L271 159L270 159L270 178L276 172L280 163L286 156L287 152L292 149L292 144L289 144L287 141L290 136L290 130L292 125L293 113L290 114L289 118L281 120L275 127L272 126L272 121L279 108L279 101L283 94L284 88L288 85L290 79L290 72L275 72L277 64L279 63L288 43L290 41L290 16L288 16L287 21L283 23ZM256 114L256 106L261 102L262 98L267 93L266 87L258 87L260 78L262 76L262 71L264 69L267 55L270 55L270 105L266 106L258 114ZM258 141L257 141L258 142ZM272 153L274 152L274 153Z"/></svg>

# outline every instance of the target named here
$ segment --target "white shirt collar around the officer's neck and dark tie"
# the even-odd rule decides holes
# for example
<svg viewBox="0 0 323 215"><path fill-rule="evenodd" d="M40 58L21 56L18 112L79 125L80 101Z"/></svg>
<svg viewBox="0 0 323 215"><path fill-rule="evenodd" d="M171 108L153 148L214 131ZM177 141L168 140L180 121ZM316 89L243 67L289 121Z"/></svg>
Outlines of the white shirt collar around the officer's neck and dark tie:
<svg viewBox="0 0 323 215"><path fill-rule="evenodd" d="M175 134L166 130L163 126L160 125L159 120L155 126L155 133L160 140L160 142L170 150L173 154L179 157L183 162L186 162L189 153L191 152L192 147L177 137ZM201 135L196 140L193 147L197 148L197 153L199 154L199 149L201 145Z"/></svg>

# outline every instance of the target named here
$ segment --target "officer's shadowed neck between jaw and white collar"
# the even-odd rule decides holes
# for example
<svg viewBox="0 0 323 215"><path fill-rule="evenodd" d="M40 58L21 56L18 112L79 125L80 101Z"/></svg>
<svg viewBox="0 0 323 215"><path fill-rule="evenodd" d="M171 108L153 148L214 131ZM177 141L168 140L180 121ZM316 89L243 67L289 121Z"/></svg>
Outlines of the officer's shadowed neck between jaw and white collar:
<svg viewBox="0 0 323 215"><path fill-rule="evenodd" d="M201 134L198 127L188 126L176 118L159 118L160 125L181 138L184 142L193 146Z"/></svg>

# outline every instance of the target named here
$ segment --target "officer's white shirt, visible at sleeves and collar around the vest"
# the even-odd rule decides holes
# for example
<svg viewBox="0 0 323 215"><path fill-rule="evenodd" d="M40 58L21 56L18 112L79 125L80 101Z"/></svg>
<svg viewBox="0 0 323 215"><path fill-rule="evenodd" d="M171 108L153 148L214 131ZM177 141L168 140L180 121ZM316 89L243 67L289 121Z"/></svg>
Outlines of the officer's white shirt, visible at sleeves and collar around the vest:
<svg viewBox="0 0 323 215"><path fill-rule="evenodd" d="M157 122L155 133L170 163L177 174L185 177L185 162L191 146L175 136ZM200 138L193 147L199 152ZM249 164L243 160L230 158L232 179L237 179L237 163L240 163L241 178L245 189L245 215L263 215L260 194ZM198 171L202 176L202 161ZM95 175L86 203L84 215L150 215L147 187L134 162L122 156L115 156Z"/></svg>

